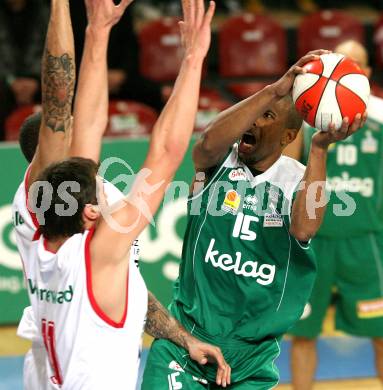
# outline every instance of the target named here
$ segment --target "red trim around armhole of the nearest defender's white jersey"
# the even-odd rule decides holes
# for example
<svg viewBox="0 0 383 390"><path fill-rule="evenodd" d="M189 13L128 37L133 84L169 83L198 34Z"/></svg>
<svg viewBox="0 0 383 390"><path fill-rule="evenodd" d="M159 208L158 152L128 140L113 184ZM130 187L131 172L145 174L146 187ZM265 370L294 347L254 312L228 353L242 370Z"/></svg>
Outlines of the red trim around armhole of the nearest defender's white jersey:
<svg viewBox="0 0 383 390"><path fill-rule="evenodd" d="M120 322L116 322L112 320L110 317L108 317L98 306L96 299L93 295L93 288L92 288L92 260L90 257L90 240L92 239L94 233L94 229L90 230L88 233L88 236L86 237L85 241L85 269L86 269L86 287L88 290L88 298L90 301L90 304L95 311L95 313L108 325L113 326L114 328L123 328L126 321L126 316L128 314L128 300L129 300L129 270L128 270L128 276L126 280L126 301L125 301L125 309L124 314L122 315L122 319Z"/></svg>

